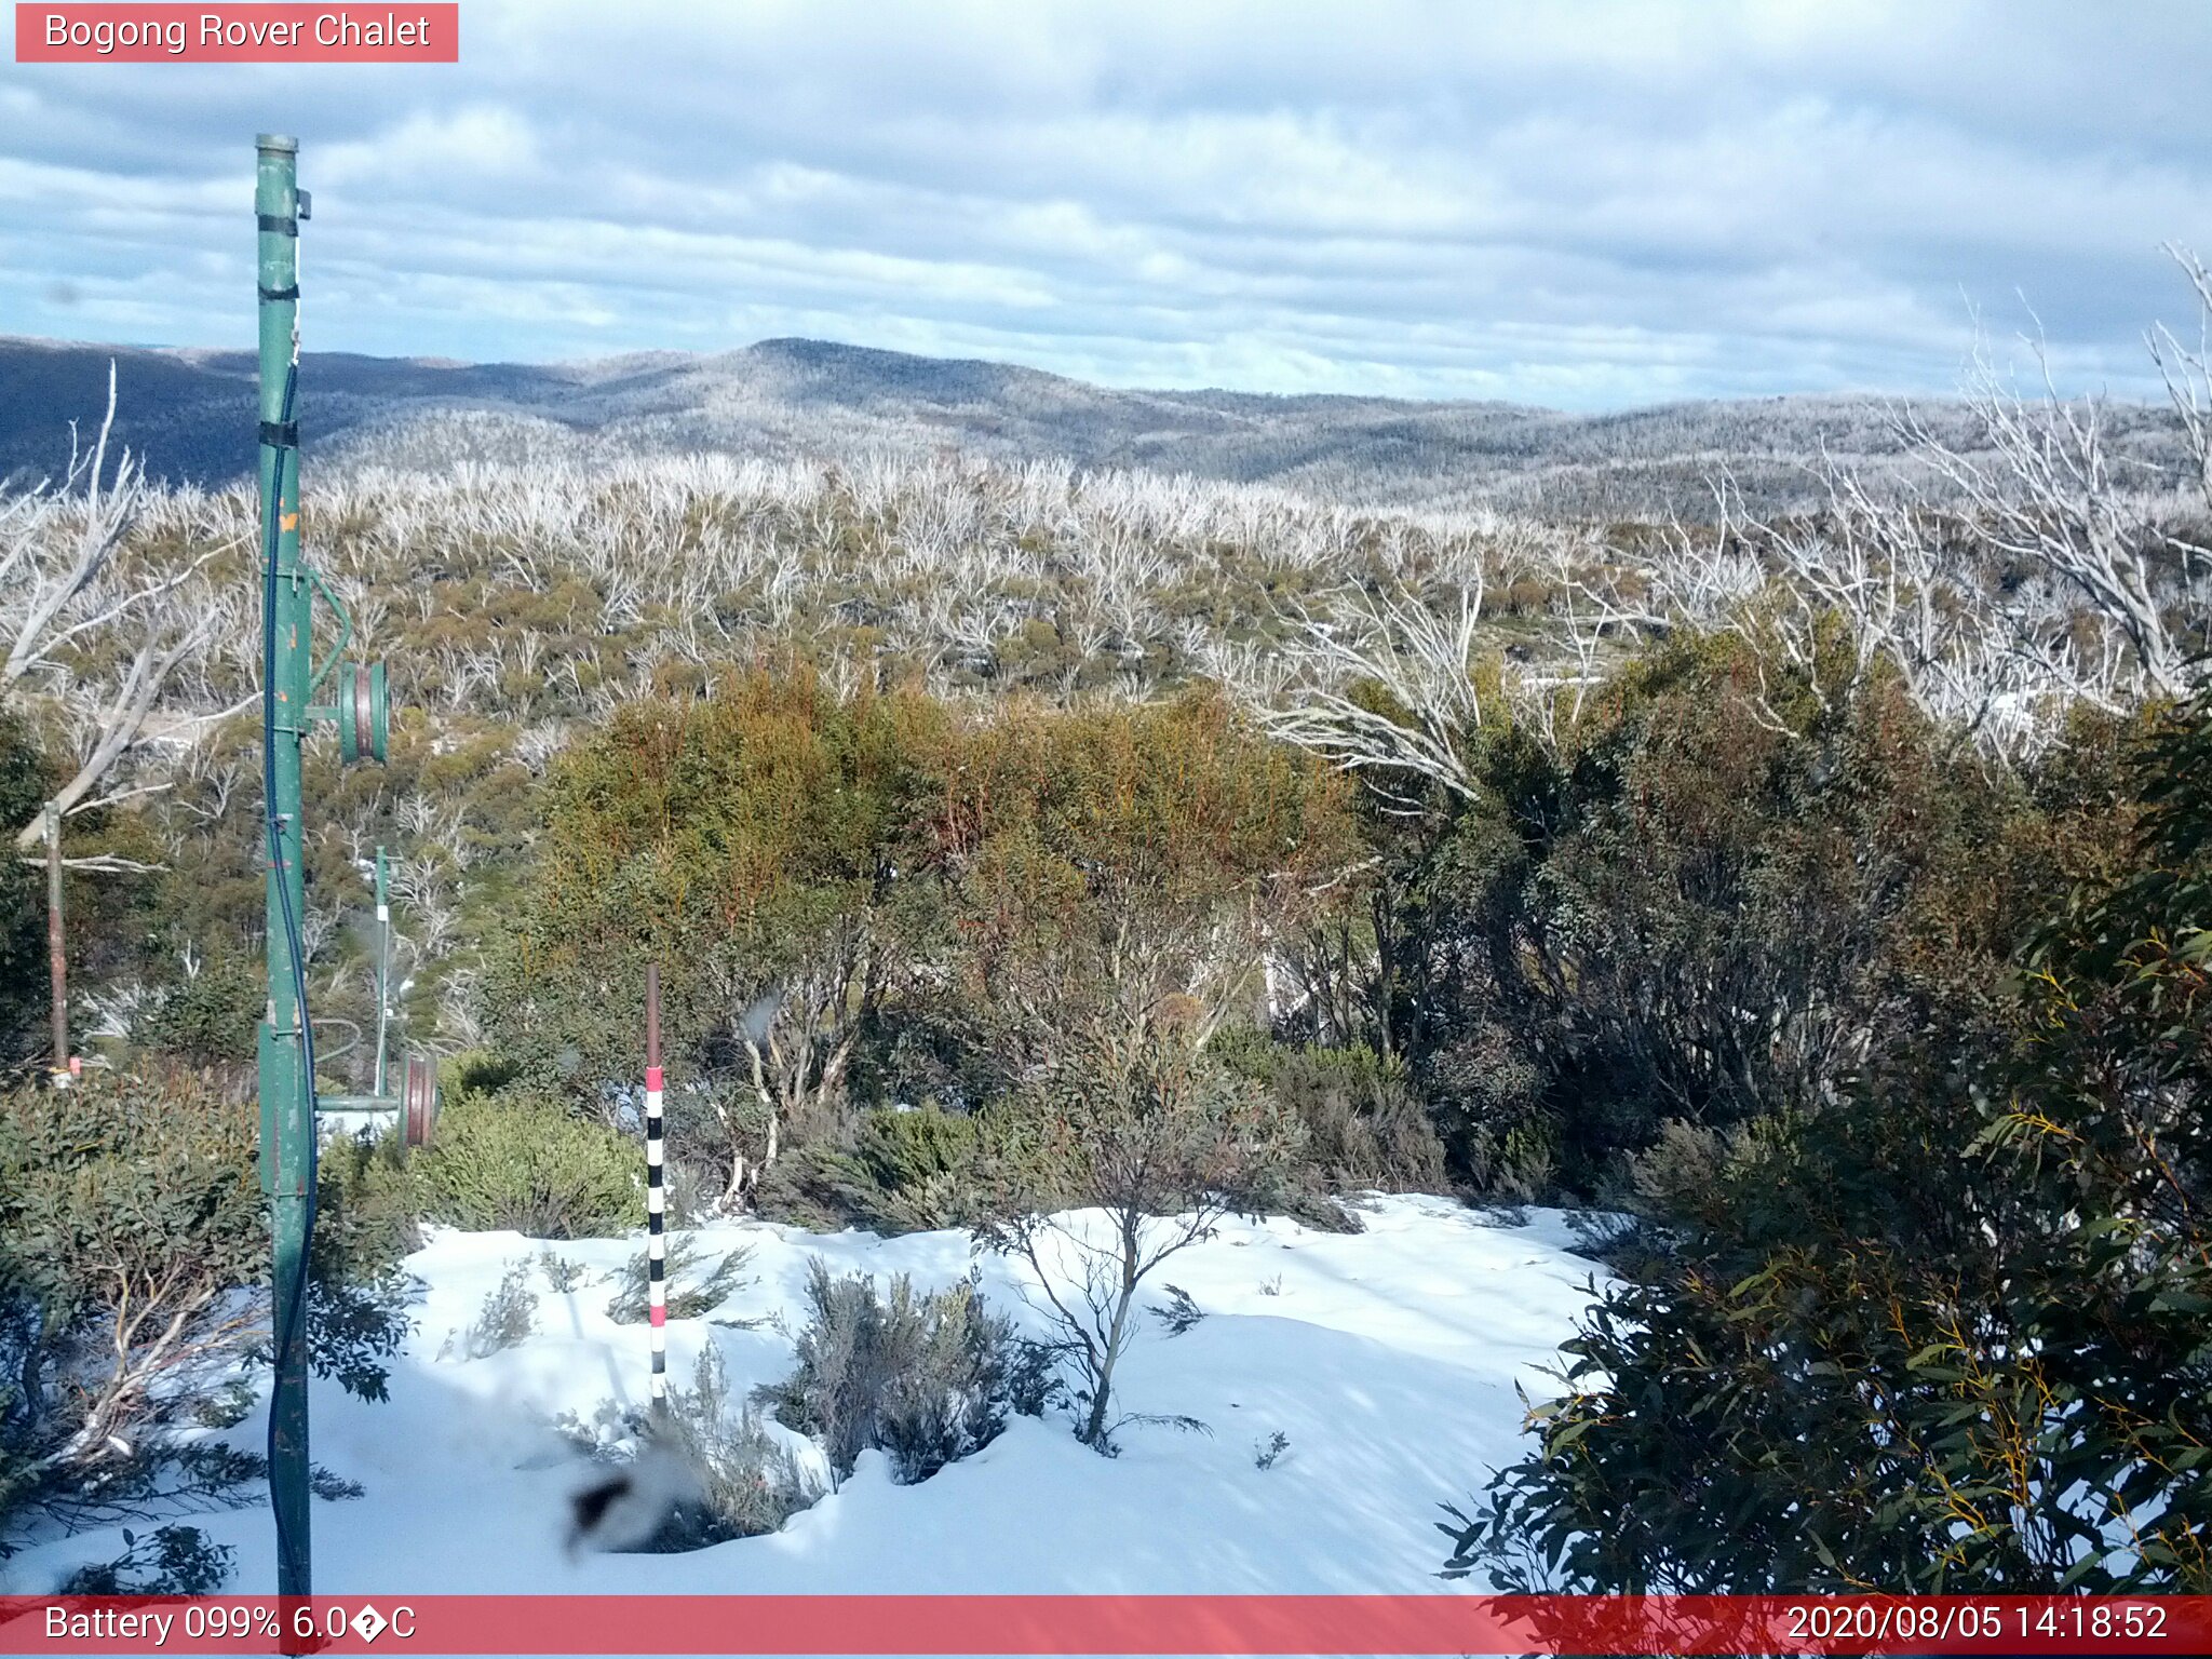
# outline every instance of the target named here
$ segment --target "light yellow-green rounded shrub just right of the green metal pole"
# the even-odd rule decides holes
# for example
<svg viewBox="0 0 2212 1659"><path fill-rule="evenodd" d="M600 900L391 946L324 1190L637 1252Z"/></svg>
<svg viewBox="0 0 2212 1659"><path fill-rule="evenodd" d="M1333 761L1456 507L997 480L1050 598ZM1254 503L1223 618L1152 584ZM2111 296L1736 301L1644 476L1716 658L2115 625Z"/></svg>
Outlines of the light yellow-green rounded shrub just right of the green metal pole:
<svg viewBox="0 0 2212 1659"><path fill-rule="evenodd" d="M462 1095L414 1159L422 1214L456 1228L586 1239L644 1221L644 1157L611 1128L531 1095Z"/></svg>

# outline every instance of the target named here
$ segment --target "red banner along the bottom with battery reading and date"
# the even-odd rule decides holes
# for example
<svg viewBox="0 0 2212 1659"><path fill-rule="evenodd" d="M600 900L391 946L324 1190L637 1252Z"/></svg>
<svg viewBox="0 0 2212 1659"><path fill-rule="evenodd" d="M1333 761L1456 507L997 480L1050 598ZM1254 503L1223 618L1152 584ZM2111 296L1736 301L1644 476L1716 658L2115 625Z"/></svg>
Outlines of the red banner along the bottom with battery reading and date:
<svg viewBox="0 0 2212 1659"><path fill-rule="evenodd" d="M2212 1597L0 1597L18 1652L2203 1655Z"/></svg>

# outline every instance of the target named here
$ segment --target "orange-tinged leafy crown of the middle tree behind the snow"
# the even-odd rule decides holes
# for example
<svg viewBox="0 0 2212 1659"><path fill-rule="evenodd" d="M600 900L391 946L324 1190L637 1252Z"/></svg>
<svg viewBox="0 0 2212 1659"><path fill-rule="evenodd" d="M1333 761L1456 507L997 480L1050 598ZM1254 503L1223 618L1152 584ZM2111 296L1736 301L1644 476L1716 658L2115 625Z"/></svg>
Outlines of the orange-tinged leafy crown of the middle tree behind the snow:
<svg viewBox="0 0 2212 1659"><path fill-rule="evenodd" d="M1354 860L1347 801L1217 695L1011 708L969 732L922 821L995 1088L1071 1042L1135 1053L1219 1031L1270 929L1294 929Z"/></svg>

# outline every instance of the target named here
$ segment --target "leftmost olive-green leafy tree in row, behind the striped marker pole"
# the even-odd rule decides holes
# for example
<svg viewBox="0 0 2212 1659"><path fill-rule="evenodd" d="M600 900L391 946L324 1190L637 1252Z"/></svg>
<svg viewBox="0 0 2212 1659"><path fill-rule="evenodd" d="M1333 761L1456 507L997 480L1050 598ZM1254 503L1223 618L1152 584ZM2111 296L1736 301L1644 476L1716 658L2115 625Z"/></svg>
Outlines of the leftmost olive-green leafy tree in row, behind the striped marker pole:
<svg viewBox="0 0 2212 1659"><path fill-rule="evenodd" d="M765 670L617 710L555 770L538 876L491 949L500 1051L588 1104L637 1068L644 964L659 958L672 1077L739 1066L745 1009L803 984L810 1022L772 1082L794 1108L834 1104L883 989L891 849L942 719L922 699L838 699Z"/></svg>

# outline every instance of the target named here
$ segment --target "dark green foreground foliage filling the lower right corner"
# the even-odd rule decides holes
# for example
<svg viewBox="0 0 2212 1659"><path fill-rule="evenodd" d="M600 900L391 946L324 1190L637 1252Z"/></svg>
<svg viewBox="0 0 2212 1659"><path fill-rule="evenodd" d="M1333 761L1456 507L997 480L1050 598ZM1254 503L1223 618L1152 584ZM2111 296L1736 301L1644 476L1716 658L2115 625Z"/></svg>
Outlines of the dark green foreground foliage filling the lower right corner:
<svg viewBox="0 0 2212 1659"><path fill-rule="evenodd" d="M1670 1164L1674 1248L1568 1345L1453 1568L1571 1590L2212 1586L2212 719L2002 1020Z"/></svg>

